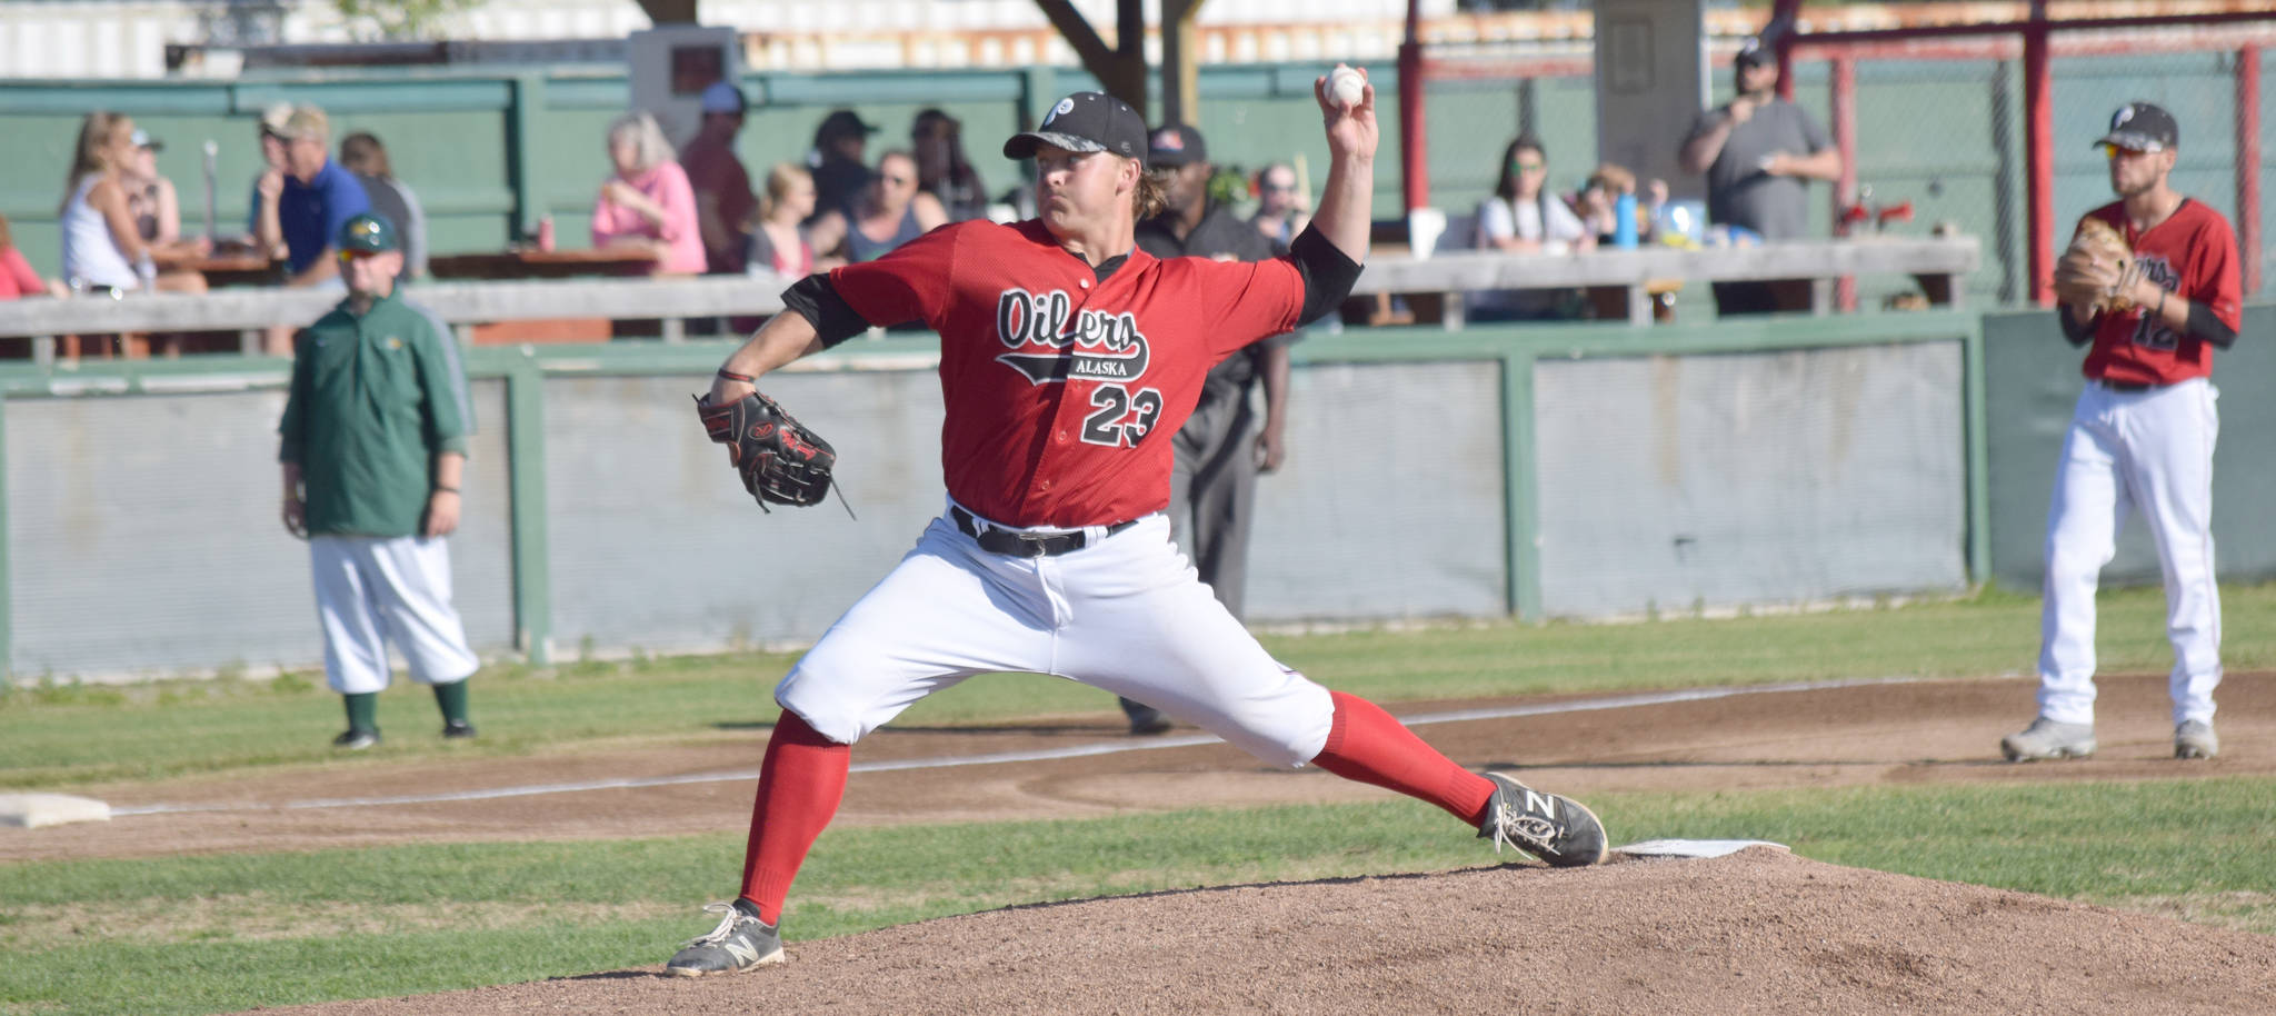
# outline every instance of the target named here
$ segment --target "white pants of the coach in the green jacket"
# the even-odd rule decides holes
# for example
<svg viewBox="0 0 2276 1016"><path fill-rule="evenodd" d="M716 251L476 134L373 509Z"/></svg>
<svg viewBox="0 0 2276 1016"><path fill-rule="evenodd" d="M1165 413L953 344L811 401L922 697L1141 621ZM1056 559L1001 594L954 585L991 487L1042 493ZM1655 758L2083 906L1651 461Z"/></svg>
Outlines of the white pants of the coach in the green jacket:
<svg viewBox="0 0 2276 1016"><path fill-rule="evenodd" d="M451 544L417 535L307 540L323 624L323 677L335 693L387 688L387 642L419 683L471 677L483 661L451 606Z"/></svg>

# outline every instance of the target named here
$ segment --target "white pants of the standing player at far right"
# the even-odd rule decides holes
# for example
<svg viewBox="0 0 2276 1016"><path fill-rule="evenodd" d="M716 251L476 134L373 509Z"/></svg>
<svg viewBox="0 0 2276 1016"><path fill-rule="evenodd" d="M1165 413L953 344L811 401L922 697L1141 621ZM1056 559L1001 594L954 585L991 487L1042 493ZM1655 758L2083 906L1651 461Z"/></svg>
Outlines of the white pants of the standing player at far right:
<svg viewBox="0 0 2276 1016"><path fill-rule="evenodd" d="M2221 683L2221 592L2212 581L2217 399L2205 378L2149 392L2089 380L2080 392L2046 513L2039 715L2094 722L2094 590L2133 508L2149 522L2164 565L2174 722L2212 720L2212 688Z"/></svg>

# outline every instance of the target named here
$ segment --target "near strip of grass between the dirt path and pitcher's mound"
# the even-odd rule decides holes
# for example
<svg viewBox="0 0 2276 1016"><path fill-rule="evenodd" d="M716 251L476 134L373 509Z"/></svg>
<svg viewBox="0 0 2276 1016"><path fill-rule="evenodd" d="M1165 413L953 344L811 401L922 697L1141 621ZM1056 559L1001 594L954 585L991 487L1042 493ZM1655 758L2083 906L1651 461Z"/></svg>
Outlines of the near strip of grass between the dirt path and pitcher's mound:
<svg viewBox="0 0 2276 1016"><path fill-rule="evenodd" d="M1618 841L1771 838L1798 854L2276 932L2271 779L1609 793ZM2110 816L2126 816L2112 834ZM658 964L731 893L740 834L615 843L43 861L0 868L0 1011L200 1014ZM1179 811L831 829L785 934L992 907L1491 863L1429 806ZM132 950L134 964L116 964Z"/></svg>

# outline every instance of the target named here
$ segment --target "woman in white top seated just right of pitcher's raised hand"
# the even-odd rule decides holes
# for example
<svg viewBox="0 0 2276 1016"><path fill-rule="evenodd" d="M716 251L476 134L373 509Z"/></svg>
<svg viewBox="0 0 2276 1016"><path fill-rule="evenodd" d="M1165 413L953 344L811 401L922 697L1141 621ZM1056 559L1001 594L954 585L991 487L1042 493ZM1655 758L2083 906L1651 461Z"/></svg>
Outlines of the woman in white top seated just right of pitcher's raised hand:
<svg viewBox="0 0 2276 1016"><path fill-rule="evenodd" d="M1479 251L1566 253L1595 246L1580 216L1550 194L1550 155L1541 139L1518 134L1502 148L1502 178L1477 205ZM1470 321L1541 321L1580 314L1570 289L1479 289L1468 296Z"/></svg>

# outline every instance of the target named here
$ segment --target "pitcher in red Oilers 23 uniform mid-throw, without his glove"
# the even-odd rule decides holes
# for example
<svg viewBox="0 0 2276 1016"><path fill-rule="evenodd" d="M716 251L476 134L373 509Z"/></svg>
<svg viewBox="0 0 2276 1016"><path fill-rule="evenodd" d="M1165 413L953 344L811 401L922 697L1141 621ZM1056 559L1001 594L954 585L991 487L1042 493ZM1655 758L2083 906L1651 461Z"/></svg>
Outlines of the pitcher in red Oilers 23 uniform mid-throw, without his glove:
<svg viewBox="0 0 2276 1016"><path fill-rule="evenodd" d="M776 686L742 891L676 975L783 959L783 898L844 795L851 745L986 672L1067 677L1195 722L1277 765L1320 765L1432 802L1552 866L1605 857L1582 804L1445 759L1379 706L1284 667L1170 544L1170 437L1202 376L1334 308L1368 255L1375 89L1313 84L1329 175L1311 228L1268 262L1156 260L1133 244L1147 180L1138 114L1063 98L1004 155L1036 159L1040 219L942 226L810 276L719 371L706 405L869 326L940 333L947 510Z"/></svg>

